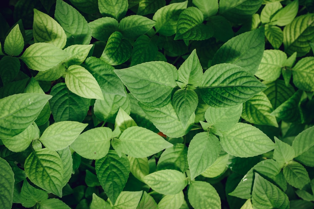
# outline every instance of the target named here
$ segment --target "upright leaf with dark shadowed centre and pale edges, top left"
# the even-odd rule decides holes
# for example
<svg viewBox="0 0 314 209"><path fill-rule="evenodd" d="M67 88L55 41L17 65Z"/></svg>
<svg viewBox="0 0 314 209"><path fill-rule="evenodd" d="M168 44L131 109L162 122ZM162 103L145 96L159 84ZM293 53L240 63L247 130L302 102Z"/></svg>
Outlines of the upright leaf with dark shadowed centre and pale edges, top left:
<svg viewBox="0 0 314 209"><path fill-rule="evenodd" d="M37 9L34 9L33 36L35 43L49 43L59 49L67 42L67 35L57 21Z"/></svg>

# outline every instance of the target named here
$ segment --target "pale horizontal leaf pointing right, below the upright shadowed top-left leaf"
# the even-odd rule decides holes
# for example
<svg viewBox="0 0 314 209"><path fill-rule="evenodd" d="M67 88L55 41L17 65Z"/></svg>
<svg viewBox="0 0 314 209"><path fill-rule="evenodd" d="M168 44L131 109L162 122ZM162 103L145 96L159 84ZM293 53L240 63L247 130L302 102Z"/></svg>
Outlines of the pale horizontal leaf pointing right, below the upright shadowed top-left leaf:
<svg viewBox="0 0 314 209"><path fill-rule="evenodd" d="M68 52L58 49L52 44L35 43L24 51L20 59L32 70L46 71L57 66L68 56Z"/></svg>

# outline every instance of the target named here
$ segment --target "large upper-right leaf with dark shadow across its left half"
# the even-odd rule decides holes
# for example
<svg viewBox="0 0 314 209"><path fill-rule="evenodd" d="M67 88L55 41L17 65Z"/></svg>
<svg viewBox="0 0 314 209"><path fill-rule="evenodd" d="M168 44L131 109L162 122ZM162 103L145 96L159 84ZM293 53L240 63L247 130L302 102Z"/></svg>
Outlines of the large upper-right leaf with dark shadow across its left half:
<svg viewBox="0 0 314 209"><path fill-rule="evenodd" d="M213 57L212 65L230 63L255 74L263 57L264 45L263 27L237 35L219 48Z"/></svg>

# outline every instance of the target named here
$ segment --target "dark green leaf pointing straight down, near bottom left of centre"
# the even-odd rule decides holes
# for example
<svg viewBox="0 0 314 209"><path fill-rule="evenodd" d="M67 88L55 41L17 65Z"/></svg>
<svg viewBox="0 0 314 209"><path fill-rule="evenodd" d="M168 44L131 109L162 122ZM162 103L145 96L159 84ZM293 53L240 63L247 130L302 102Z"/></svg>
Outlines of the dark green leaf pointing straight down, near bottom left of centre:
<svg viewBox="0 0 314 209"><path fill-rule="evenodd" d="M130 163L127 156L119 158L114 150L95 162L96 174L100 185L115 204L119 194L123 190L130 173Z"/></svg>

